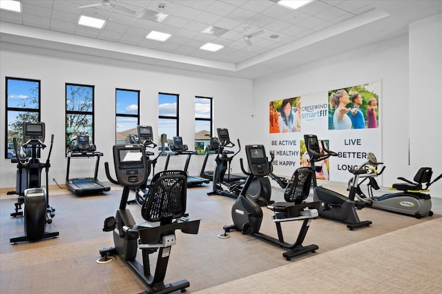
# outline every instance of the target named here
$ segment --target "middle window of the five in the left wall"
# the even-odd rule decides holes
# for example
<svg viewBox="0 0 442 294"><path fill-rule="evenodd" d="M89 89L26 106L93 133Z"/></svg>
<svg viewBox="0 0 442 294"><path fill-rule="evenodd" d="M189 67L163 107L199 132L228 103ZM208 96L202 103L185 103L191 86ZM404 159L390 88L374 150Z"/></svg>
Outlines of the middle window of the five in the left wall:
<svg viewBox="0 0 442 294"><path fill-rule="evenodd" d="M115 144L130 143L140 124L140 91L115 90Z"/></svg>

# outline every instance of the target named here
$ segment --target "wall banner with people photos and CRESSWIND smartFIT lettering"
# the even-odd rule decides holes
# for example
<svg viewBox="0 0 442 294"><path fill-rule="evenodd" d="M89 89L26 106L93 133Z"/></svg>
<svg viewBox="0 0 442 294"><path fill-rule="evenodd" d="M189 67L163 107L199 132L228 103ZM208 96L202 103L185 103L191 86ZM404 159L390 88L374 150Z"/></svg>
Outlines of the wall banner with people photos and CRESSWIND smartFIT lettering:
<svg viewBox="0 0 442 294"><path fill-rule="evenodd" d="M350 168L360 166L371 152L381 158L378 104L381 81L269 102L269 139L273 173L291 175L308 166L304 134L317 135L330 157L318 179L347 182Z"/></svg>

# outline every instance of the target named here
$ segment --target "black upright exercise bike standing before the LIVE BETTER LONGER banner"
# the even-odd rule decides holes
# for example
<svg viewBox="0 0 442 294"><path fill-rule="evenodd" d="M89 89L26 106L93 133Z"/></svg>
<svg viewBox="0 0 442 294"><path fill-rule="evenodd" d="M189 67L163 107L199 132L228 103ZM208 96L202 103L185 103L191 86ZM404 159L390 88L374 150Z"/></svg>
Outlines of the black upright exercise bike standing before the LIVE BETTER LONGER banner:
<svg viewBox="0 0 442 294"><path fill-rule="evenodd" d="M307 147L307 152L310 156L310 166L311 170L320 171L320 166L315 166L315 162L327 159L331 156L338 156L337 153L325 148L324 142L321 141L323 151L320 151L318 137L316 135L304 135L305 146ZM329 190L322 186L318 186L316 182L316 173L313 177L313 188L314 188L314 201L321 202L321 209L319 209L319 216L327 219L332 219L338 222L343 222L347 224L347 228L353 231L354 228L361 228L364 226L369 226L372 224L371 221L361 221L359 220L358 214L356 213L356 202L354 197L356 195L356 187L358 179L361 175L367 174L367 170L364 168L351 169L350 173L353 174L354 180L352 186L350 187L348 197L336 193L333 190Z"/></svg>

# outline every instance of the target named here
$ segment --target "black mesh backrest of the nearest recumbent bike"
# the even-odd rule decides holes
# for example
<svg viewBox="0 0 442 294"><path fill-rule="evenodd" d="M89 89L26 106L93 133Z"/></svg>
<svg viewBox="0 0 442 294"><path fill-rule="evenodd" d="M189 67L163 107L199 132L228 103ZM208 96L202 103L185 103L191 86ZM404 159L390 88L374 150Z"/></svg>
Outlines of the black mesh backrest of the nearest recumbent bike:
<svg viewBox="0 0 442 294"><path fill-rule="evenodd" d="M152 186L142 206L148 222L170 223L186 213L187 176L183 170L164 170L153 176Z"/></svg>

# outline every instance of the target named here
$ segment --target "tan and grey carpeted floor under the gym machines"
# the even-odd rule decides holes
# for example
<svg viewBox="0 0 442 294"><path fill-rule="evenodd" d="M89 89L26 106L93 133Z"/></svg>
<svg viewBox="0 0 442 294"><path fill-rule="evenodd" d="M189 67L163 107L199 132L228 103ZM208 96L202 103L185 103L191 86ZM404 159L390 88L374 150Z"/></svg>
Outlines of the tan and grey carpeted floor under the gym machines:
<svg viewBox="0 0 442 294"><path fill-rule="evenodd" d="M188 190L188 212L192 219L202 219L200 231L177 232L165 282L189 280L190 293L441 292L441 215L416 219L365 208L358 215L373 224L355 231L314 219L304 244L316 244L318 251L288 262L282 248L249 235L232 232L228 239L218 238L222 226L231 224L234 199L207 196L209 190L209 185ZM276 201L282 199L280 188L272 193ZM56 216L47 230L59 231L59 237L11 245L10 237L23 233L23 219L10 217L16 197L1 195L0 293L144 291L118 258L108 264L96 262L99 249L113 245L112 233L104 233L102 226L106 217L115 215L120 196L121 188L114 186L104 195L84 197L52 189L50 204ZM135 220L142 221L140 207L128 207ZM271 211L265 208L264 213L261 232L276 237ZM300 225L283 224L287 242L295 241Z"/></svg>

